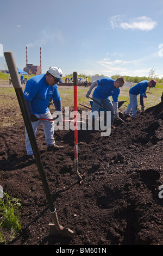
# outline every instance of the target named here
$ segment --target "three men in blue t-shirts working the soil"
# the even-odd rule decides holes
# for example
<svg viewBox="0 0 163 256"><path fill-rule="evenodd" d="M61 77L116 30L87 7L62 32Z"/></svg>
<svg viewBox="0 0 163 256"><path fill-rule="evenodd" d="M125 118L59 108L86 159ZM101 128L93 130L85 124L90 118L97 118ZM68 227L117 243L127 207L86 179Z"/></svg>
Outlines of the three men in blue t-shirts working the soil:
<svg viewBox="0 0 163 256"><path fill-rule="evenodd" d="M54 139L54 121L45 121L40 119L52 119L53 115L49 111L49 100L53 99L55 111L62 112L61 97L58 90L58 83L64 83L62 80L62 70L55 66L49 68L46 74L41 74L30 78L26 83L24 89L24 98L27 103L27 108L32 121L34 135L36 136L37 127L42 124L45 133L45 140L47 150L57 150L63 146L55 144ZM125 83L123 77L118 77L116 80L104 77L100 80L93 81L89 90L86 93L89 99L92 89L95 88L92 94L93 105L91 119L97 118L100 105L103 105L108 111L111 112L111 125L114 119L118 118L118 96L120 95L120 88ZM137 95L140 94L140 105L142 111L145 109L144 99L146 97L147 87L152 88L156 86L156 81L142 81L137 83L129 90L130 102L127 107L126 115L131 118L136 117L137 112ZM110 100L112 96L112 101ZM132 114L130 115L132 109ZM96 113L96 114L95 114ZM28 133L26 130L26 150L27 155L33 158L33 150L30 145Z"/></svg>

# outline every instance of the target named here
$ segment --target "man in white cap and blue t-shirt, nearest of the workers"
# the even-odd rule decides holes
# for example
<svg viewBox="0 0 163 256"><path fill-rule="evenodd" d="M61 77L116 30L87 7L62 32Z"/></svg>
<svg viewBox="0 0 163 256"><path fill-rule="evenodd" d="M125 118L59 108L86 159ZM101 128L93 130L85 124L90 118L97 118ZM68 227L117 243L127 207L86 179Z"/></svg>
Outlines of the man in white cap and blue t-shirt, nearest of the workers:
<svg viewBox="0 0 163 256"><path fill-rule="evenodd" d="M51 97L54 102L55 111L62 111L57 83L64 83L62 80L62 71L60 68L53 66L49 68L46 74L30 78L24 89L24 97L26 99L30 120L32 121L34 135L36 136L37 127L42 124L48 151L63 148L55 144L54 121L39 120L39 118L52 119L51 112L48 108ZM26 150L27 155L33 158L33 150L30 145L27 130Z"/></svg>

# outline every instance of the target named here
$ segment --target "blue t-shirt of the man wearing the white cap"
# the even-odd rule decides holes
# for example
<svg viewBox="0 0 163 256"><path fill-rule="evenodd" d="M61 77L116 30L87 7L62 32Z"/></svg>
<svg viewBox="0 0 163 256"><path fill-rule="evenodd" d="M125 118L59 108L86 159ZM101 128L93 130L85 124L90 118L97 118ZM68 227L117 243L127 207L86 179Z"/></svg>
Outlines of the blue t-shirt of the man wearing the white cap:
<svg viewBox="0 0 163 256"><path fill-rule="evenodd" d="M46 82L45 74L34 76L27 81L24 97L31 102L34 114L48 112L51 97L54 102L61 100L57 84L50 86Z"/></svg>

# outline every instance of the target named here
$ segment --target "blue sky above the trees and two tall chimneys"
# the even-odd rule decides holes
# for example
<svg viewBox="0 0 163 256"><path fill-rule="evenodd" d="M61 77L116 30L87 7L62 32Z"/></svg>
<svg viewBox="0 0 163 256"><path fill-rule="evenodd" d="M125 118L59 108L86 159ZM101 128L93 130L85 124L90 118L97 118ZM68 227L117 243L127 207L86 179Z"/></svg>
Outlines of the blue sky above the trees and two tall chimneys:
<svg viewBox="0 0 163 256"><path fill-rule="evenodd" d="M162 0L1 1L0 44L18 68L58 66L65 76L163 77ZM0 49L1 50L1 49ZM0 70L5 58L0 52Z"/></svg>

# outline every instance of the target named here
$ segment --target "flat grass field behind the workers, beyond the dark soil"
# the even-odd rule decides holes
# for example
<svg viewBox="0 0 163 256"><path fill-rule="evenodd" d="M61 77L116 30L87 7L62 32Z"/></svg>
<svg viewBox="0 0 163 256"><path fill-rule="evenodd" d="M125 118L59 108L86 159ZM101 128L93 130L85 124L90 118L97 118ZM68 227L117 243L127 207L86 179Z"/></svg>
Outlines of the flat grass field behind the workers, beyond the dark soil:
<svg viewBox="0 0 163 256"><path fill-rule="evenodd" d="M62 101L62 108L65 107L72 107L74 100L73 100L73 86L58 86L59 93L61 96ZM24 88L23 88L24 90ZM78 107L84 108L80 105L82 103L85 106L90 107L89 100L85 97L87 93L88 88L85 88L84 86L78 87ZM122 107L119 109L120 112L124 113L126 111L126 108L129 103L129 94L128 94L129 88L124 87L121 89L121 93L119 96L119 101L125 101L122 105ZM148 92L147 89L147 99L145 102L145 108L152 107L160 103L161 101L161 95L162 95L162 89L161 88L152 88ZM139 96L137 96L138 100L138 109L140 108L139 103ZM22 114L20 111L20 106L18 105L17 97L15 94L14 88L0 88L0 108L3 109L3 113L5 113L1 117L1 127L3 126L11 126L13 124L16 124L22 119ZM16 109L16 111L15 111ZM87 110L87 108L84 108ZM53 112L55 110L54 105L50 106L50 110Z"/></svg>

